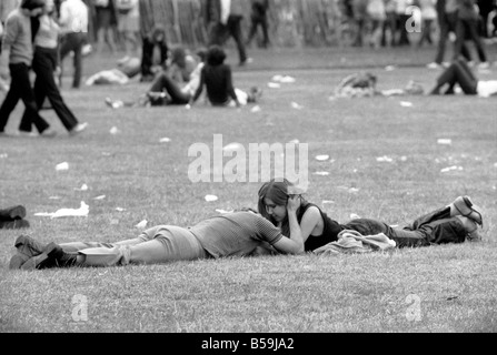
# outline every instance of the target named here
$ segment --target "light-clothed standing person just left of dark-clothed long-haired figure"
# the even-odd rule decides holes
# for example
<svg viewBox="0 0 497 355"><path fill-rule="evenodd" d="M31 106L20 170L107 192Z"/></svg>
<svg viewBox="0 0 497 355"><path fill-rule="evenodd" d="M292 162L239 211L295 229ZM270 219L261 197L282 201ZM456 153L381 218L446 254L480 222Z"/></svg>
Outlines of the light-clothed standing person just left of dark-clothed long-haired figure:
<svg viewBox="0 0 497 355"><path fill-rule="evenodd" d="M125 44L126 55L131 55L138 49L140 32L140 12L138 0L116 0L118 12L118 33Z"/></svg>

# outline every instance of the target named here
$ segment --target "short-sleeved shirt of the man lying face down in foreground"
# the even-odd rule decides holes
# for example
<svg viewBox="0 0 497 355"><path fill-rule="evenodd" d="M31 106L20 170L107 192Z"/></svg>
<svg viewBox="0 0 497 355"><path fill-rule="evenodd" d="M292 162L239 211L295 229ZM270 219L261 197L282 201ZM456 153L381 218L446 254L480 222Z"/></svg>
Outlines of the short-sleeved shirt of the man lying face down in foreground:
<svg viewBox="0 0 497 355"><path fill-rule="evenodd" d="M274 245L282 237L271 222L252 212L217 215L190 227L190 232L213 257L250 255L256 247Z"/></svg>

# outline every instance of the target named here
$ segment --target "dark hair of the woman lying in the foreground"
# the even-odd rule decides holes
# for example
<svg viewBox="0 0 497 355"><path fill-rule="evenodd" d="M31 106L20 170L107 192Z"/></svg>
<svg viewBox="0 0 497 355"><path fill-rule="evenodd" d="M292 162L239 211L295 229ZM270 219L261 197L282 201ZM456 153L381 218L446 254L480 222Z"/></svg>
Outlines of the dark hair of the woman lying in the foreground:
<svg viewBox="0 0 497 355"><path fill-rule="evenodd" d="M271 200L276 205L279 206L287 206L288 197L290 195L289 190L294 187L294 184L289 182L288 180L275 180L265 183L259 189L259 201L257 203L257 209L259 210L259 213L268 221L270 221L272 224L277 224L275 219L269 215L267 209L265 199ZM302 197L301 200L301 206L307 205L308 202ZM300 209L299 209L300 210ZM297 211L298 216L298 211ZM285 220L281 222L281 233L284 235L290 235L290 226L288 223L288 216L285 217Z"/></svg>

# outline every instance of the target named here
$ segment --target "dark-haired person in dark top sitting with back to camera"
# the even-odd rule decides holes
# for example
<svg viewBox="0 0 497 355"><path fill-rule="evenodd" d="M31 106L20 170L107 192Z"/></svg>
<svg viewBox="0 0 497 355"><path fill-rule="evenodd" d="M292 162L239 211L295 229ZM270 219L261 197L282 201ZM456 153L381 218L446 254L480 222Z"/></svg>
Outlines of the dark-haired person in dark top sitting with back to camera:
<svg viewBox="0 0 497 355"><path fill-rule="evenodd" d="M200 84L190 100L192 105L201 95L206 87L207 98L213 106L241 106L249 102L256 102L261 95L261 90L251 88L249 92L235 89L231 68L225 63L226 52L220 45L213 44L207 51L206 65L200 73Z"/></svg>

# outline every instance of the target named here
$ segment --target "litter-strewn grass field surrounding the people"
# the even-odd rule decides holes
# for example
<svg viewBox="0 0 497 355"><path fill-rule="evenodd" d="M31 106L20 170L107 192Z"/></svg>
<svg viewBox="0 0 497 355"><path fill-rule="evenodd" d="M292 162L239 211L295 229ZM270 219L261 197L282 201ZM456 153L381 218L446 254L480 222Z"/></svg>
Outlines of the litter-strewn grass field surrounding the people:
<svg viewBox="0 0 497 355"><path fill-rule="evenodd" d="M495 48L489 52L495 58ZM188 179L189 146L212 146L213 134L222 134L225 145L308 143L307 196L340 222L357 214L404 225L468 194L485 211L484 241L368 255L12 272L8 263L20 232L0 231L0 332L497 331L495 98L329 99L340 79L361 69L378 75L379 89L401 88L411 79L428 89L439 73L424 68L433 49L250 54L250 67L233 65L235 82L264 89L259 112L200 103L191 110L111 110L106 97L132 99L147 85L64 89L88 131L69 138L53 112L44 111L58 138L1 139L0 206L23 204L31 223L26 232L42 242L112 242L136 236L142 220L149 226L189 225L217 209L256 207L259 182ZM86 73L112 68L117 59L89 57ZM236 62L232 50L230 60ZM269 89L275 74L296 82ZM478 75L495 79L497 68ZM64 88L69 83L68 77ZM163 138L170 141L160 142ZM451 144L438 144L439 139ZM330 159L317 161L320 154ZM57 171L62 162L69 170ZM330 174L315 174L324 171ZM89 190L78 191L82 184ZM207 202L207 194L219 199ZM90 206L88 217L34 216L76 209L81 201Z"/></svg>

